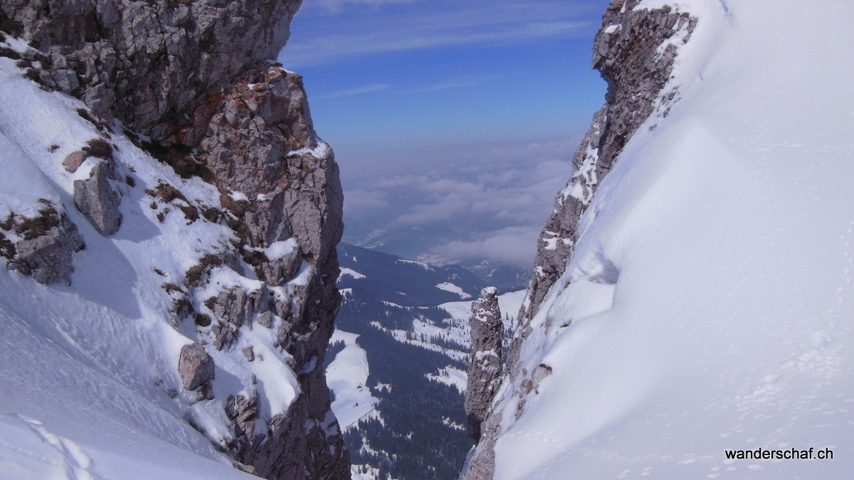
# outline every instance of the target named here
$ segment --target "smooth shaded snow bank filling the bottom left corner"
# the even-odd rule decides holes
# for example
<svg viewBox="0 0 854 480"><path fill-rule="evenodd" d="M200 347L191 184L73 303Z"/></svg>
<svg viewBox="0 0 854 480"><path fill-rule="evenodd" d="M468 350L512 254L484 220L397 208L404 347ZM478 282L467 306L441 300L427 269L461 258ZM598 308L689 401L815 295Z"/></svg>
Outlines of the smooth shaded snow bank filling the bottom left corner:
<svg viewBox="0 0 854 480"><path fill-rule="evenodd" d="M8 272L0 272L0 285L4 477L249 478L192 430L154 383L75 342L66 329L97 309Z"/></svg>

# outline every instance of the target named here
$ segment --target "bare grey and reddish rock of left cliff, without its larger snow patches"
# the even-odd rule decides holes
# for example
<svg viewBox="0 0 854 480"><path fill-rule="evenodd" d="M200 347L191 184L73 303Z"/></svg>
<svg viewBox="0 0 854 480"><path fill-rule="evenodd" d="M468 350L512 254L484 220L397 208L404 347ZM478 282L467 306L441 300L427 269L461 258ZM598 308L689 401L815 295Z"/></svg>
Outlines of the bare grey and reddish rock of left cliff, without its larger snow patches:
<svg viewBox="0 0 854 480"><path fill-rule="evenodd" d="M164 285L173 296L174 325L195 318L202 327L197 340L222 350L237 348L242 326L275 329L300 389L266 429L250 425L265 410L257 395L229 401L233 439L225 452L260 477L343 478L349 456L324 371L315 368L323 365L341 301L338 167L313 130L301 77L266 61L284 46L300 3L9 0L0 16L37 50L27 54L33 60L28 78L84 101L105 136L108 120L120 120L150 138L128 132L179 176L201 177L219 189L222 209L202 215L230 227L236 241L233 250L208 255L186 272L183 286ZM69 159L67 167L81 161ZM98 165L90 179L75 184L74 197L92 225L109 235L121 221L119 199L108 189L108 163ZM180 208L190 222L199 217L202 208L169 185L146 192ZM202 282L219 266L261 285L211 297ZM63 270L54 277L69 275Z"/></svg>

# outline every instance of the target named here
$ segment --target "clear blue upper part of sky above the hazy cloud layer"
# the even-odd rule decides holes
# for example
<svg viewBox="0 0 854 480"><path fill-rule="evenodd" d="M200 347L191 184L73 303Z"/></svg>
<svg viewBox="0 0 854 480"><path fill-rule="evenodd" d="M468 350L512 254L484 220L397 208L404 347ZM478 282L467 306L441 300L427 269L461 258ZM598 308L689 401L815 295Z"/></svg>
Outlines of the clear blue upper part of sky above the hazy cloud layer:
<svg viewBox="0 0 854 480"><path fill-rule="evenodd" d="M590 46L605 0L307 0L280 60L346 149L583 130L605 84Z"/></svg>

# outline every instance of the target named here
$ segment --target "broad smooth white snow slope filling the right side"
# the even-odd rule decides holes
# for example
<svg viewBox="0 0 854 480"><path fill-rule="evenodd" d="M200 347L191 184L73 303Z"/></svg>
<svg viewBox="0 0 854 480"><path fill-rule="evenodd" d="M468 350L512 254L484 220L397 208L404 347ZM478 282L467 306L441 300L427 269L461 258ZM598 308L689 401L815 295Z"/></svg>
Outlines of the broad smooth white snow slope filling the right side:
<svg viewBox="0 0 854 480"><path fill-rule="evenodd" d="M582 217L522 350L551 374L518 419L522 378L503 387L495 477L848 477L854 4L637 8L664 3L699 18L681 100ZM726 460L737 448L834 460Z"/></svg>

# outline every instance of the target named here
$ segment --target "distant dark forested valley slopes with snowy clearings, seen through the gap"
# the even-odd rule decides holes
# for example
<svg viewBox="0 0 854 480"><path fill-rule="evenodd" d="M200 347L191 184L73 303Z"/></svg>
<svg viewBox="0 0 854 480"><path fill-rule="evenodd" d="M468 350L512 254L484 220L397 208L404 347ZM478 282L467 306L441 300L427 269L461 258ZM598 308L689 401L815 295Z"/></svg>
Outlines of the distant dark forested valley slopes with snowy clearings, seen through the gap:
<svg viewBox="0 0 854 480"><path fill-rule="evenodd" d="M471 448L469 314L483 281L348 244L339 255L343 301L326 375L354 478L455 477ZM502 310L515 315L523 294L501 296Z"/></svg>

